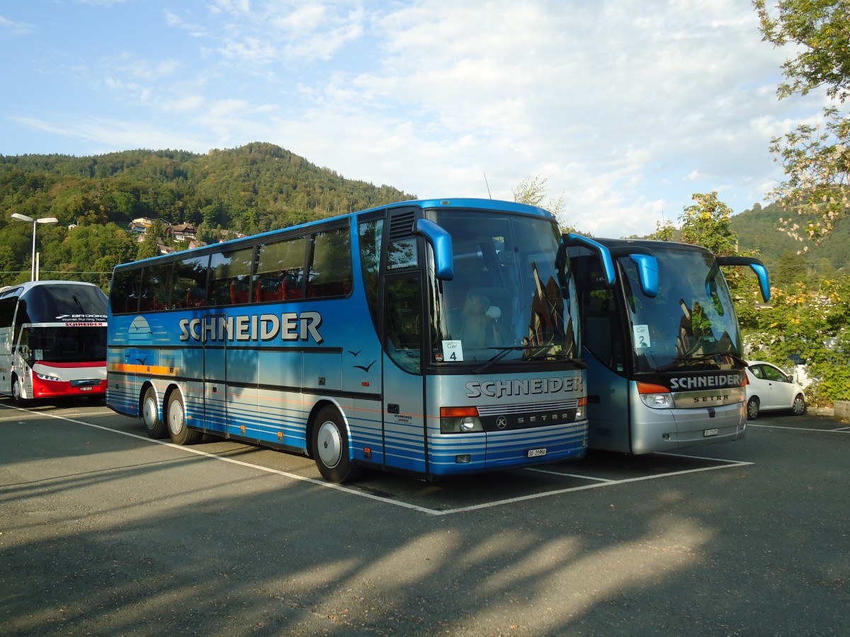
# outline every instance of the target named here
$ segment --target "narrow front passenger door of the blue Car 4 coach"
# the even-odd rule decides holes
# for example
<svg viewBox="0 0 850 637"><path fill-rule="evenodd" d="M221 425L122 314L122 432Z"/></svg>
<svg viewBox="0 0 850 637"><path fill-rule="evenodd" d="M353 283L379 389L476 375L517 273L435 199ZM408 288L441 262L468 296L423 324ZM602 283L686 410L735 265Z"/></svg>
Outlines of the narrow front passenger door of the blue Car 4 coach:
<svg viewBox="0 0 850 637"><path fill-rule="evenodd" d="M382 307L384 463L427 472L421 273L386 277Z"/></svg>

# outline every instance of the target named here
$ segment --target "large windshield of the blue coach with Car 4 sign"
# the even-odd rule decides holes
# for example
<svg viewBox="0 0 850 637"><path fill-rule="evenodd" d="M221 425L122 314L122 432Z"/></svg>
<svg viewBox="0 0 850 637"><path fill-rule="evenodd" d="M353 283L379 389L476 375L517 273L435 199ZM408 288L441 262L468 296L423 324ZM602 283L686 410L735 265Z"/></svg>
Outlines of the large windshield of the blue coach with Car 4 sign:
<svg viewBox="0 0 850 637"><path fill-rule="evenodd" d="M427 214L451 235L454 256L454 278L432 285L433 362L580 355L570 265L558 261L560 234L550 219Z"/></svg>

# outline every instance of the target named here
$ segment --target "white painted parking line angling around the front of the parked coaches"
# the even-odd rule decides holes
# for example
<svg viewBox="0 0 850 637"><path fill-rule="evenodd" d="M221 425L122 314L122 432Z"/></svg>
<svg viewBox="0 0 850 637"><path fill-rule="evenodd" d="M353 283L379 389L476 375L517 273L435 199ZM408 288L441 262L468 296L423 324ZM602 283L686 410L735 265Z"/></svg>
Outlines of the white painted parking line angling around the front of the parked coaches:
<svg viewBox="0 0 850 637"><path fill-rule="evenodd" d="M402 507L404 509L419 511L420 513L427 513L430 516L448 516L448 515L455 514L455 513L464 513L466 511L490 509L490 508L495 507L495 506L511 505L511 504L514 504L514 503L517 503L517 502L525 502L525 501L533 500L533 499L548 498L548 497L551 497L553 495L560 495L562 493L572 493L574 491L586 491L587 489L600 488L600 487L610 487L610 486L618 485L618 484L626 484L627 482L643 482L644 480L655 480L656 478L662 478L662 477L668 477L668 476L682 476L682 475L688 474L688 473L697 473L697 472L700 472L700 471L714 471L716 469L729 469L729 468L732 468L732 467L735 467L735 466L745 466L745 465L752 465L753 464L751 462L740 462L740 461L735 461L735 460L723 460L723 459L715 459L715 458L700 458L698 456L688 456L688 455L679 455L679 454L665 454L665 455L677 455L677 456L682 457L682 458L708 459L708 460L712 460L712 461L716 461L716 462L723 462L723 463L727 463L727 464L718 465L718 466L710 466L710 467L701 467L700 469L688 469L688 470L684 470L684 471L671 471L669 473L660 473L660 474L656 474L656 475L653 475L653 476L624 478L622 480L608 480L608 479L604 479L604 478L598 478L598 477L592 477L592 476L581 476L581 475L578 475L578 474L564 473L564 472L560 472L560 471L547 471L547 470L544 470L544 469L528 469L528 470L525 470L525 471L537 471L537 472L540 472L540 473L548 473L548 474L552 474L552 475L556 475L556 476L574 477L574 478L578 478L578 479L581 479L581 480L587 480L588 482L594 482L594 483L584 484L584 485L581 485L581 486L578 486L578 487L568 487L568 488L554 489L553 491L545 491L543 493L532 493L530 495L522 495L522 496L518 496L518 497L515 497L515 498L492 500L490 502L483 502L479 505L462 506L462 507L458 507L456 509L431 509L431 508L428 508L426 506L413 505L409 502L404 502L402 500L385 498L385 497L382 497L382 496L379 496L379 495L373 495L372 493L364 493L364 492L358 491L354 488L344 487L343 485L333 484L331 482L325 482L324 480L316 480L315 478L310 478L310 477L306 477L306 476L299 476L295 473L290 473L288 471L280 471L278 469L271 469L269 467L264 467L262 465L254 465L250 462L245 462L243 460L236 460L236 459L232 459L232 458L224 458L220 455L209 454L206 451L201 451L200 449L196 449L196 448L192 448L192 447L184 447L184 446L177 445L177 444L174 444L174 443L168 443L168 442L163 441L163 440L156 440L154 438L147 437L146 435L145 436L139 436L138 434L130 433L128 431L120 431L120 430L117 430L117 429L111 429L110 427L105 427L105 426L101 426L101 425L94 425L94 423L85 422L83 420L77 420L77 419L74 419L74 418L68 418L67 416L60 416L60 415L56 415L56 414L48 414L46 412L34 413L34 412L30 412L28 409L22 409L20 407L14 407L12 405L0 405L0 407L5 407L6 409L15 409L17 411L23 411L23 412L26 412L28 414L33 414L33 415L47 416L49 418L54 418L56 420L65 420L66 422L73 422L77 425L93 427L94 429L99 429L100 431L110 431L111 433L117 433L117 434L121 434L122 436L135 438L136 440L141 440L145 443L161 444L165 447L170 447L170 448L176 449L178 451L182 451L186 454L195 454L195 455L203 456L205 458L212 459L212 460L219 460L221 462L229 462L232 465L241 465L241 466L244 466L244 467L257 469L258 471L264 471L266 473L272 473L272 474L275 474L277 476L284 476L284 477L292 478L292 480L298 480L298 481L301 481L301 482L309 482L310 484L313 484L317 487L334 489L336 491L341 491L343 493L348 493L350 495L356 495L360 498L376 500L378 502L382 502L382 503L387 504L387 505L394 505L394 506ZM86 414L86 415L88 415L88 414Z"/></svg>

